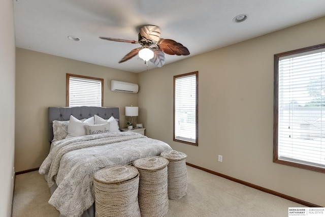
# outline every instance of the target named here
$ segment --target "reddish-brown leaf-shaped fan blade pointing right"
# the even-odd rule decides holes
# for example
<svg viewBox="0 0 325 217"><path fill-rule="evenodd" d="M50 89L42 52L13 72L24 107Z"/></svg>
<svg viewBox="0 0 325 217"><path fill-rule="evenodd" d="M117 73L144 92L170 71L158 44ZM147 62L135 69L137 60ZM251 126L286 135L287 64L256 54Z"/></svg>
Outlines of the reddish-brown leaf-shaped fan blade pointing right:
<svg viewBox="0 0 325 217"><path fill-rule="evenodd" d="M186 47L171 39L160 39L158 47L170 55L189 55L189 51Z"/></svg>

